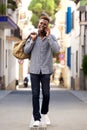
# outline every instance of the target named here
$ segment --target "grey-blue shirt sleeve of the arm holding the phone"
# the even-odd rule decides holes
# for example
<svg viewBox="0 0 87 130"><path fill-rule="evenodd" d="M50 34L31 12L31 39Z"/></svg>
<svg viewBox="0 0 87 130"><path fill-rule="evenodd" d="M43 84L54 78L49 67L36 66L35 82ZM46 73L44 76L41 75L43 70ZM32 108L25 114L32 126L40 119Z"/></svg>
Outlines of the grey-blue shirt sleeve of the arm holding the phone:
<svg viewBox="0 0 87 130"><path fill-rule="evenodd" d="M60 47L59 47L59 44L58 44L55 36L49 35L47 39L48 39L48 42L52 48L52 51L55 53L58 53L60 50Z"/></svg>

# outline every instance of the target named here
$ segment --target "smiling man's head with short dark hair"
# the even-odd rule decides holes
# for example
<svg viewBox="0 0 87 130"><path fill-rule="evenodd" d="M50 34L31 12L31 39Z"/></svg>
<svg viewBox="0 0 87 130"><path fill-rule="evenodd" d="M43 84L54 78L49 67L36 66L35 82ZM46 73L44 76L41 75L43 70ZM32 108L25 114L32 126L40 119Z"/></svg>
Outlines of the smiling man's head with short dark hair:
<svg viewBox="0 0 87 130"><path fill-rule="evenodd" d="M38 24L39 34L46 35L46 29L48 28L49 18L47 16L40 17Z"/></svg>

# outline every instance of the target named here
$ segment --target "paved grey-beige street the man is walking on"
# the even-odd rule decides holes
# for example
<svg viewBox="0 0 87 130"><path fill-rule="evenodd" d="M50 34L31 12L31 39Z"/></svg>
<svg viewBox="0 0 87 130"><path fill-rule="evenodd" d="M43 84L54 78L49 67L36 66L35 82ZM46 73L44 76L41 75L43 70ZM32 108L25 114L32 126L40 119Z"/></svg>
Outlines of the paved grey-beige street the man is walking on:
<svg viewBox="0 0 87 130"><path fill-rule="evenodd" d="M0 91L0 130L29 130L31 91ZM47 130L87 130L87 91L51 90Z"/></svg>

